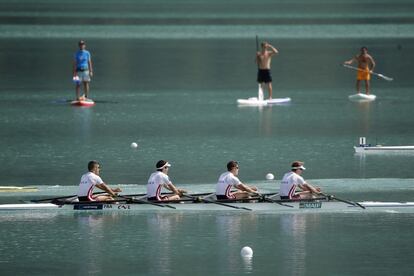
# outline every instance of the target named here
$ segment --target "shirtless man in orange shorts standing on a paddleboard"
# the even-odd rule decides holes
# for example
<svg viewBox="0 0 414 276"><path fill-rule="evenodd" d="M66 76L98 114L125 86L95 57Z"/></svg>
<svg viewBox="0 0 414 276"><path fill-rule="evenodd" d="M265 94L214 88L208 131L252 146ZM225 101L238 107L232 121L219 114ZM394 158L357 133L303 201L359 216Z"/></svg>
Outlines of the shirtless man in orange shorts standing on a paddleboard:
<svg viewBox="0 0 414 276"><path fill-rule="evenodd" d="M370 79L371 73L374 71L375 68L375 61L368 54L368 48L362 47L361 53L356 55L351 60L345 61L344 64L351 65L354 61L358 62L358 72L357 72L357 81L356 81L356 88L357 93L361 93L360 83L362 80L365 81L365 91L366 94L369 95L370 93Z"/></svg>

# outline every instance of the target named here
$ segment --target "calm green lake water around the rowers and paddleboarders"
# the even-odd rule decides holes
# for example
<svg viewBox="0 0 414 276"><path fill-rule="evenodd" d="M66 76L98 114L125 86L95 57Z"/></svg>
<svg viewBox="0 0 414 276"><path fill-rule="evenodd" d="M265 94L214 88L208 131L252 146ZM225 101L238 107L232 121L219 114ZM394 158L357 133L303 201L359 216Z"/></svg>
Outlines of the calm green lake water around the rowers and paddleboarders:
<svg viewBox="0 0 414 276"><path fill-rule="evenodd" d="M212 191L233 159L242 181L274 191L265 175L280 180L303 160L305 178L329 193L412 201L414 154L353 146L361 136L414 144L413 12L408 0L0 1L0 186L39 187L0 201L73 194L92 159L131 193L159 159L192 192ZM257 94L256 35L280 52L274 96L290 104L236 103ZM80 39L94 63L92 108L69 105ZM355 72L341 66L361 46L394 78L373 77L370 103L348 100ZM5 275L408 275L412 219L2 213L0 262ZM255 252L247 262L244 245Z"/></svg>

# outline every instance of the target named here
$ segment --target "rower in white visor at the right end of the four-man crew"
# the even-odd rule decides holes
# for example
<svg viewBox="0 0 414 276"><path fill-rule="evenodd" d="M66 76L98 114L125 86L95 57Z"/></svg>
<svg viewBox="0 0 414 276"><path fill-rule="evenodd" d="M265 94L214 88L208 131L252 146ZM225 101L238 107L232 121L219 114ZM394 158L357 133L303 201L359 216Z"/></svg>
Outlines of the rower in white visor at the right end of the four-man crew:
<svg viewBox="0 0 414 276"><path fill-rule="evenodd" d="M319 187L314 187L303 179L301 174L306 170L303 165L304 162L301 161L293 162L291 171L283 176L282 182L280 183L280 199L313 198L313 194L319 194L321 192ZM302 191L296 192L297 187Z"/></svg>

